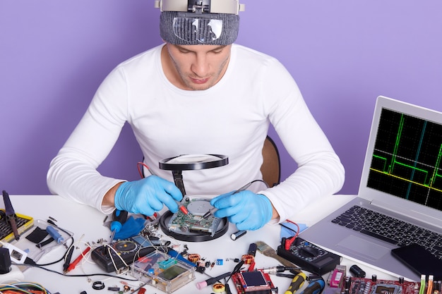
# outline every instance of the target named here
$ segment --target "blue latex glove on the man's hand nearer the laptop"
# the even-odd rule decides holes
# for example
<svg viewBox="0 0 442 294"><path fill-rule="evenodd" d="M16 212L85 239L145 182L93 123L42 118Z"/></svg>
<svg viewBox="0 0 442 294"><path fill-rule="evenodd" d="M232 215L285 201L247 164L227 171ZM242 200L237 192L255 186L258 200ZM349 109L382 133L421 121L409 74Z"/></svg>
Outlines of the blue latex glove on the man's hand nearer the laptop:
<svg viewBox="0 0 442 294"><path fill-rule="evenodd" d="M237 225L238 230L258 230L272 219L273 207L270 200L249 190L229 192L210 200L218 210L216 217L227 217Z"/></svg>

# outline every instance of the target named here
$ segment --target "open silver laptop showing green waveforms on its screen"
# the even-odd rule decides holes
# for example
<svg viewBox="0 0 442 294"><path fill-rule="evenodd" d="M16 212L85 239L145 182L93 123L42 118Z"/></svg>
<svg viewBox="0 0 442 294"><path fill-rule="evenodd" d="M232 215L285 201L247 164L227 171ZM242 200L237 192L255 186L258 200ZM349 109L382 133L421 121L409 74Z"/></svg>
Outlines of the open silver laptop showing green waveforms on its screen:
<svg viewBox="0 0 442 294"><path fill-rule="evenodd" d="M362 214L366 209L367 223L348 223L354 210ZM382 223L379 214L390 219ZM382 226L387 233L378 233ZM401 234L402 239L395 240ZM420 281L419 274L391 250L418 243L442 259L437 251L442 250L441 234L442 113L380 96L357 197L300 237L393 276Z"/></svg>

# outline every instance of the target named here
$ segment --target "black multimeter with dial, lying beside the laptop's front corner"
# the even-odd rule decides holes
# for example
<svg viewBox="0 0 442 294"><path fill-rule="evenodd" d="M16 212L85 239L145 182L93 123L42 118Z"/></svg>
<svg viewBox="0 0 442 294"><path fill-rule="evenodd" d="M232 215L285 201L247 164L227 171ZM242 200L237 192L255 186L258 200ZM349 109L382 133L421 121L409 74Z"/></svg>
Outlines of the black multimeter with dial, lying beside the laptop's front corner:
<svg viewBox="0 0 442 294"><path fill-rule="evenodd" d="M277 247L277 255L293 262L306 271L323 275L333 271L340 263L340 256L328 252L308 241L297 237L294 242L285 249L286 238L282 238L281 245Z"/></svg>

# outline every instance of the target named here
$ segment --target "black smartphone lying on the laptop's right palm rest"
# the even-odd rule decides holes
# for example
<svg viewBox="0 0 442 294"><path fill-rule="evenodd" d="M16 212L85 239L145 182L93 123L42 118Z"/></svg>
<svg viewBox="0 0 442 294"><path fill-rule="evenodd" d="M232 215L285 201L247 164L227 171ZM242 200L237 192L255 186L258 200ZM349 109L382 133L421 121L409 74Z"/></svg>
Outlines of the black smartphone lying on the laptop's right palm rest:
<svg viewBox="0 0 442 294"><path fill-rule="evenodd" d="M434 276L434 281L442 279L442 260L438 259L421 245L412 243L391 250L391 254L416 274Z"/></svg>

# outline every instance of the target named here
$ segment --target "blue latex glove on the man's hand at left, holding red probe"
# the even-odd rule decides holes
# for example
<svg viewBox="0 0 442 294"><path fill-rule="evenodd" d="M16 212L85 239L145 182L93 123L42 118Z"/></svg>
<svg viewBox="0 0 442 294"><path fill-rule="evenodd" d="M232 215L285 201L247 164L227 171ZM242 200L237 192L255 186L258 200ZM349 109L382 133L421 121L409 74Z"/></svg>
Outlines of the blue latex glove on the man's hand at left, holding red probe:
<svg viewBox="0 0 442 294"><path fill-rule="evenodd" d="M133 214L153 215L165 204L171 212L178 211L177 201L183 198L177 186L157 176L122 183L115 192L115 207Z"/></svg>

